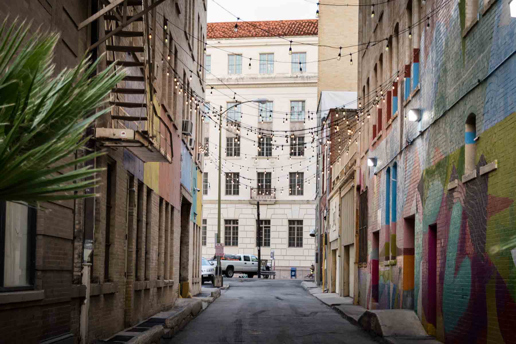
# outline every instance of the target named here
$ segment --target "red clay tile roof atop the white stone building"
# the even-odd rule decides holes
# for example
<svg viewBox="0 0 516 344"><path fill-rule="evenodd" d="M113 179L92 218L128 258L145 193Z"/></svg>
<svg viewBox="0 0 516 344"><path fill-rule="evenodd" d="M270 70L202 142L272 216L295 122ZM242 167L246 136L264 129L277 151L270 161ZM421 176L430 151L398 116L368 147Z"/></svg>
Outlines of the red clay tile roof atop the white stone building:
<svg viewBox="0 0 516 344"><path fill-rule="evenodd" d="M208 39L317 36L318 34L317 19L238 22L237 32L234 31L235 23L236 22L208 23L206 28Z"/></svg>

